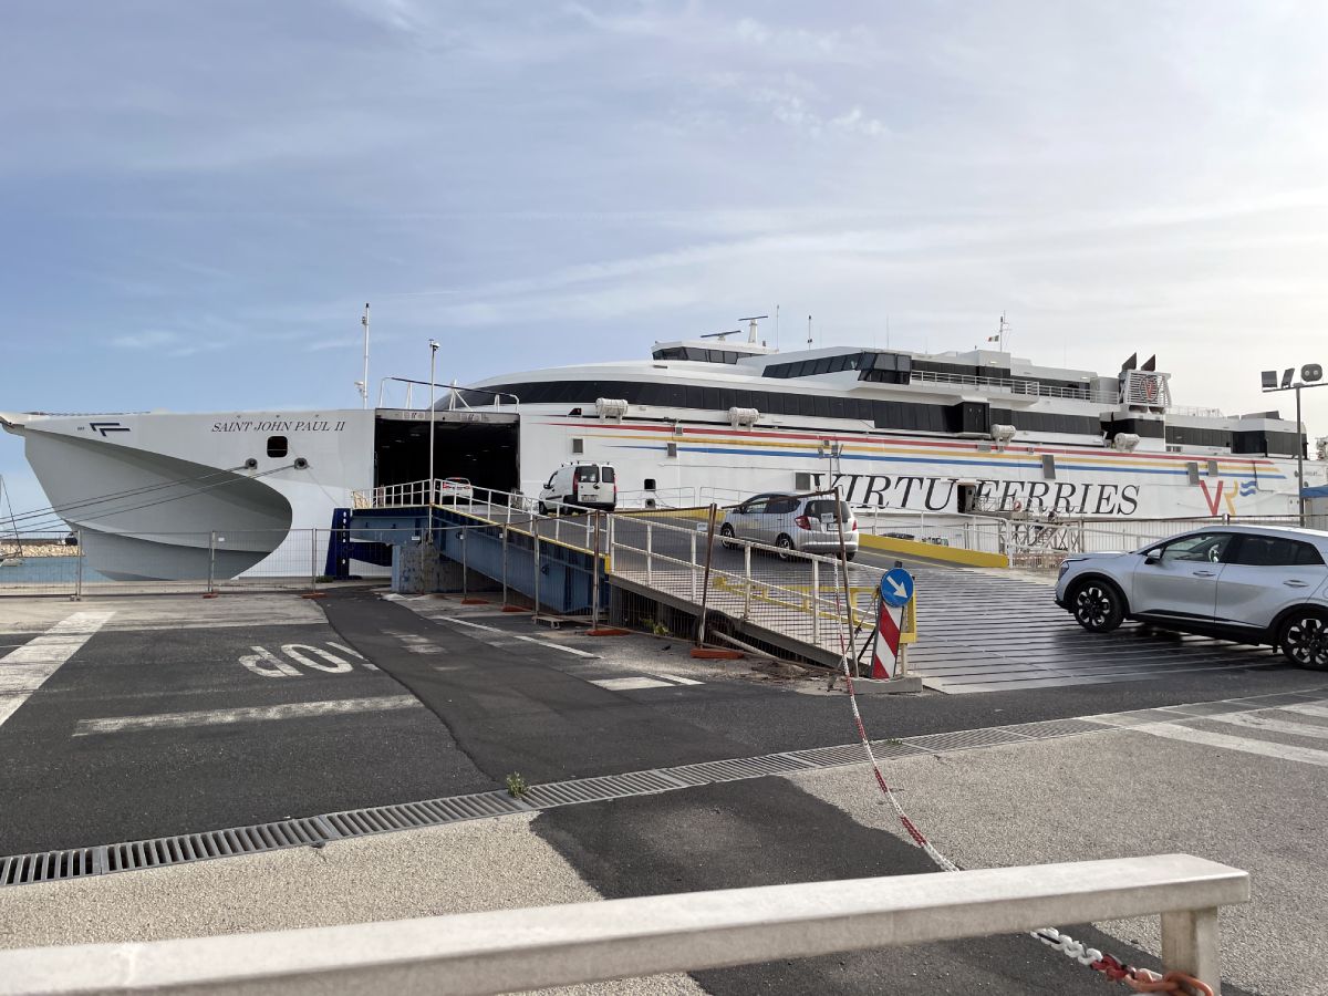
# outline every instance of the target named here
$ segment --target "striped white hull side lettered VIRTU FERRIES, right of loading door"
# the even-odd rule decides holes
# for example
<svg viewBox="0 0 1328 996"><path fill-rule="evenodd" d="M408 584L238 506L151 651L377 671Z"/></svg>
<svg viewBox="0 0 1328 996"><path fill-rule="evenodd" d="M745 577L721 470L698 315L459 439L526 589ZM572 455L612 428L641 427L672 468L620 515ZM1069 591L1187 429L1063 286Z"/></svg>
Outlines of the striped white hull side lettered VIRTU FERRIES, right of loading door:
<svg viewBox="0 0 1328 996"><path fill-rule="evenodd" d="M527 494L548 470L572 458L618 467L619 487L637 493L653 479L668 503L708 495L745 495L835 487L855 506L931 513L963 511L961 489L979 509L1054 510L1061 517L1137 519L1296 513L1296 465L1268 457L1207 458L1173 453L1114 453L1065 445L1023 444L980 452L972 441L919 440L891 433L806 428L681 426L675 422L604 424L529 413L522 453L550 454L522 474ZM676 457L669 457L669 446ZM562 456L559 456L562 454ZM1048 479L1044 456L1056 459ZM1191 482L1191 463L1201 474ZM1324 481L1305 463L1308 483ZM703 494L703 491L705 491Z"/></svg>

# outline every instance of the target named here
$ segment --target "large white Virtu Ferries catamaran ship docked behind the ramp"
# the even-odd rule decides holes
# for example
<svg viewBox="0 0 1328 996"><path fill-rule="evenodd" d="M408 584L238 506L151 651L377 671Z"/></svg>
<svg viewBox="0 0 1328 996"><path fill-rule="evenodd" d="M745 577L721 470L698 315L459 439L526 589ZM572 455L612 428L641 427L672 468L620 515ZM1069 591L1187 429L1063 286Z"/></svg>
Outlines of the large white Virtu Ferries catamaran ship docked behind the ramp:
<svg viewBox="0 0 1328 996"><path fill-rule="evenodd" d="M567 461L610 462L641 505L837 486L928 513L1287 515L1308 456L1278 412L1173 404L1151 359L1100 374L1001 349L780 352L754 320L746 341L495 376L432 412L0 414L90 566L138 578L283 570L292 531L331 527L352 493L426 478L430 422L440 478L534 495ZM1328 483L1321 452L1304 478Z"/></svg>

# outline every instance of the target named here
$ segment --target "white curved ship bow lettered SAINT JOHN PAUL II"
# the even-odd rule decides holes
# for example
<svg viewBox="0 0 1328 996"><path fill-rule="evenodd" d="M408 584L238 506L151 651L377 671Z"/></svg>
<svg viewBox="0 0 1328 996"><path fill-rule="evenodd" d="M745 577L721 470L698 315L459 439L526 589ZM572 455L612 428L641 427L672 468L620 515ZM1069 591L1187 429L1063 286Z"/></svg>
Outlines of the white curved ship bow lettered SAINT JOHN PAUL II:
<svg viewBox="0 0 1328 996"><path fill-rule="evenodd" d="M4 421L89 564L117 580L307 571L308 534L293 537L373 479L373 413L359 409ZM274 436L287 454L267 454Z"/></svg>

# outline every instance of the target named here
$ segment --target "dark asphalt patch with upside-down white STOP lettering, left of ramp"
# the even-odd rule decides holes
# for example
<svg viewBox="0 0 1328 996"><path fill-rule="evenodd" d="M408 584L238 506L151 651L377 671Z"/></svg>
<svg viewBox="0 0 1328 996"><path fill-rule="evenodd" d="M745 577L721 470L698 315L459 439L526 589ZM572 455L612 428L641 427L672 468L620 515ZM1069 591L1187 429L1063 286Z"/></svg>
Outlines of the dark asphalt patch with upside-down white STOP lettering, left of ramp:
<svg viewBox="0 0 1328 996"><path fill-rule="evenodd" d="M44 604L53 620L106 620L0 722L0 854L493 788L307 602ZM7 661L0 688L28 667Z"/></svg>

